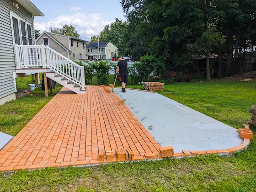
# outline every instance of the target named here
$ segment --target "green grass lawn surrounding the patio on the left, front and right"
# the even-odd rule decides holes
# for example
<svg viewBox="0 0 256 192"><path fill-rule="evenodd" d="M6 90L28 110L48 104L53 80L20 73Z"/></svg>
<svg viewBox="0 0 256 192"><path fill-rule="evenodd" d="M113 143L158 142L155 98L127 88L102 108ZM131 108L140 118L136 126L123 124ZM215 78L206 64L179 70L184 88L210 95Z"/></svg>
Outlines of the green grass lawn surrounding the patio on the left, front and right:
<svg viewBox="0 0 256 192"><path fill-rule="evenodd" d="M141 88L141 85L129 87ZM250 119L251 114L247 112L247 108L256 103L254 82L177 83L165 85L165 91L159 93L235 128L241 128ZM5 133L8 130L15 135L36 114L29 108L34 105L33 107L38 111L49 100L40 95L31 96L37 101L35 103L29 102L29 97L0 106L2 107L0 122L5 120L4 118L11 118L9 117L11 112L21 113L25 110L24 114L29 116L27 118L23 116L21 119L13 117L12 125L5 125ZM21 110L23 105L30 107ZM12 109L9 109L11 107ZM3 110L5 112L2 112ZM14 116L18 117L19 113ZM21 123L22 126L19 125ZM0 127L3 130L1 124ZM251 129L256 133L256 128ZM246 151L236 153L229 158L210 155L88 168L47 168L38 171L0 173L0 191L253 192L256 191L256 137L251 140L250 147Z"/></svg>

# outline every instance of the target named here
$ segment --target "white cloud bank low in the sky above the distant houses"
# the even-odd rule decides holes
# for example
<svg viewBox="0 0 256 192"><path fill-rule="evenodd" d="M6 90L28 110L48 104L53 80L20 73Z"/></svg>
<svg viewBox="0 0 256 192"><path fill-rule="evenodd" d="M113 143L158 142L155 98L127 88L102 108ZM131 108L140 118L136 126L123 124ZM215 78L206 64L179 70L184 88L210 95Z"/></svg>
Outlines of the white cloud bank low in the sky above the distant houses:
<svg viewBox="0 0 256 192"><path fill-rule="evenodd" d="M113 21L105 21L103 15L98 13L84 14L75 13L73 15L61 15L48 22L35 22L35 28L40 32L49 31L49 27L62 27L63 25L73 25L81 38L90 40L91 36L98 35L105 25Z"/></svg>

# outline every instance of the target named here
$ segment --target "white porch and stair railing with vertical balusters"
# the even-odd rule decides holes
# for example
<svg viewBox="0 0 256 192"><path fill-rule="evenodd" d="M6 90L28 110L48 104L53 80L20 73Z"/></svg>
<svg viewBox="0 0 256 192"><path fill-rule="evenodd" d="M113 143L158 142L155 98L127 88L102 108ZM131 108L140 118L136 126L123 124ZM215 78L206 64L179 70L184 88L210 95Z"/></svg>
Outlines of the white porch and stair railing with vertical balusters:
<svg viewBox="0 0 256 192"><path fill-rule="evenodd" d="M85 90L84 66L64 57L52 48L41 45L15 44L16 68L49 68Z"/></svg>

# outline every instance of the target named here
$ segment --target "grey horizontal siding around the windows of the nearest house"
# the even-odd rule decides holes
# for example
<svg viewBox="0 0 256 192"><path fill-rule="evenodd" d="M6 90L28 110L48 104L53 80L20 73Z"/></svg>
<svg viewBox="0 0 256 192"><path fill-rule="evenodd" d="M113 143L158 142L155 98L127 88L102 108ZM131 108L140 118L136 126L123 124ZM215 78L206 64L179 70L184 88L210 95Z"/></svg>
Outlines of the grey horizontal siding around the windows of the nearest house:
<svg viewBox="0 0 256 192"><path fill-rule="evenodd" d="M15 93L15 84L13 72L15 72L16 64L14 58L14 47L11 32L10 11L21 17L23 20L31 24L32 43L34 41L34 26L32 14L19 5L17 10L12 6L12 0L0 0L0 99L13 98ZM10 96L12 95L12 96ZM9 99L8 99L9 100Z"/></svg>

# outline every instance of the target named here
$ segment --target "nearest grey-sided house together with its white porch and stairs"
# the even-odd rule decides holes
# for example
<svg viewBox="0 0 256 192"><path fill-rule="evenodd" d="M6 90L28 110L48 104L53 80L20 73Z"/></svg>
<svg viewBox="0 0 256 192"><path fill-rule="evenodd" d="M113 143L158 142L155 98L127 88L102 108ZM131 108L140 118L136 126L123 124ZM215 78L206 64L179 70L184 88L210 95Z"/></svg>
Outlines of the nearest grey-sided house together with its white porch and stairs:
<svg viewBox="0 0 256 192"><path fill-rule="evenodd" d="M84 67L67 58L64 45L65 56L46 43L35 45L34 16L44 15L31 0L0 0L0 105L16 99L16 77L31 74L36 74L37 84L39 73L43 73L50 82L85 94ZM69 50L72 53L72 48ZM45 86L46 96L47 89Z"/></svg>

